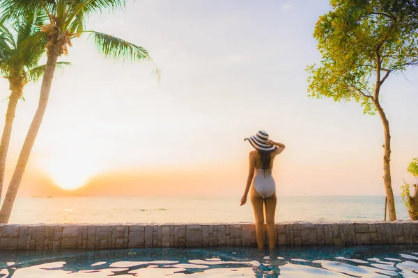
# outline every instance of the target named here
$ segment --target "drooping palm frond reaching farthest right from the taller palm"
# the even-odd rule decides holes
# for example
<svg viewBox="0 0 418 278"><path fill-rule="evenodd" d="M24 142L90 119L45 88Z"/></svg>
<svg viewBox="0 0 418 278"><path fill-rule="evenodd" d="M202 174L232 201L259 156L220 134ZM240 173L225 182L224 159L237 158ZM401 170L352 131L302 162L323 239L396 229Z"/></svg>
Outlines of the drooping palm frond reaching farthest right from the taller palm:
<svg viewBox="0 0 418 278"><path fill-rule="evenodd" d="M139 47L112 35L95 31L85 31L89 33L88 38L93 39L95 48L105 58L121 59L125 61L150 60L150 55L144 47Z"/></svg>

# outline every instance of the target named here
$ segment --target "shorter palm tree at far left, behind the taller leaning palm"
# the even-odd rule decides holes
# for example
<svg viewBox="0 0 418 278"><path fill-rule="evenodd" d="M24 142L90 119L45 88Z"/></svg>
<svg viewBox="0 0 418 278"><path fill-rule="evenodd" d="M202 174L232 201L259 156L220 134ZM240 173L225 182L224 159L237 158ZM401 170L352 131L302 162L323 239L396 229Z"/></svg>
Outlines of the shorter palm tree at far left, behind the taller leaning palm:
<svg viewBox="0 0 418 278"><path fill-rule="evenodd" d="M23 99L24 85L38 81L45 71L45 65L38 66L38 61L45 53L48 41L45 36L39 36L40 28L37 27L45 23L44 19L39 13L29 13L24 21L17 20L7 25L0 23L0 74L8 79L11 92L0 142L0 197L17 101Z"/></svg>

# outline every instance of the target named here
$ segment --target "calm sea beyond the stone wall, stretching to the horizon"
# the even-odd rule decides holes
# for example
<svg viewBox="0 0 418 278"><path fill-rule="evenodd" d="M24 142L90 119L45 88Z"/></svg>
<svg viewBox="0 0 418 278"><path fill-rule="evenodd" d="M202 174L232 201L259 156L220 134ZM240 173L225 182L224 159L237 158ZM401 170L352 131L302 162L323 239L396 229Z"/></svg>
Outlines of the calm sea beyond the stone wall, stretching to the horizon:
<svg viewBox="0 0 418 278"><path fill-rule="evenodd" d="M254 222L240 197L24 197L10 223ZM277 222L383 220L385 197L279 197ZM408 219L396 199L398 219Z"/></svg>

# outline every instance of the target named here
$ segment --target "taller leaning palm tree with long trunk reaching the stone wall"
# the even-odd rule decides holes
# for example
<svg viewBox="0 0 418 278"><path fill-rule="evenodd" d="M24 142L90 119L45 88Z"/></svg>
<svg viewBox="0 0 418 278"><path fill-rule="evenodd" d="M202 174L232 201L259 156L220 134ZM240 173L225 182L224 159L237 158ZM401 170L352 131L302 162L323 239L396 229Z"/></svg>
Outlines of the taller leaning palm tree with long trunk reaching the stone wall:
<svg viewBox="0 0 418 278"><path fill-rule="evenodd" d="M126 0L0 0L3 11L1 20L20 18L27 10L42 10L49 22L42 26L42 32L47 38L47 65L40 88L38 109L33 117L31 126L24 140L24 145L17 160L15 172L10 181L6 198L0 210L0 223L7 223L13 208L13 203L29 160L33 143L38 134L42 117L47 108L49 91L54 77L56 61L62 54L67 54L71 40L88 33L93 39L96 49L106 58L121 58L123 60L150 60L148 51L135 44L126 42L111 35L88 31L85 22L89 15L100 13L102 10L123 8Z"/></svg>

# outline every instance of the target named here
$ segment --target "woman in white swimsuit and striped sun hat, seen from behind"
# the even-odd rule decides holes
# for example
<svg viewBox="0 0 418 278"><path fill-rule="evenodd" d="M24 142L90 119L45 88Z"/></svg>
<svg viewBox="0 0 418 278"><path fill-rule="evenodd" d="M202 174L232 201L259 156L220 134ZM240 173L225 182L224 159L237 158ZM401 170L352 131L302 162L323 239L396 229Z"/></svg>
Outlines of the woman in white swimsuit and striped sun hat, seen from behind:
<svg viewBox="0 0 418 278"><path fill-rule="evenodd" d="M252 183L253 186L251 186L249 199L254 208L254 216L256 218L257 245L259 249L264 248L264 206L268 228L268 246L270 249L273 249L277 242L276 225L274 224L277 196L272 169L274 158L277 154L283 152L285 146L269 140L268 133L265 131L258 131L255 136L245 138L244 140L248 140L256 150L249 152L249 173L245 193L241 198L241 206L247 202L247 195ZM256 173L255 177L254 172Z"/></svg>

